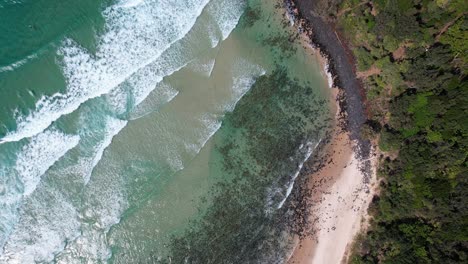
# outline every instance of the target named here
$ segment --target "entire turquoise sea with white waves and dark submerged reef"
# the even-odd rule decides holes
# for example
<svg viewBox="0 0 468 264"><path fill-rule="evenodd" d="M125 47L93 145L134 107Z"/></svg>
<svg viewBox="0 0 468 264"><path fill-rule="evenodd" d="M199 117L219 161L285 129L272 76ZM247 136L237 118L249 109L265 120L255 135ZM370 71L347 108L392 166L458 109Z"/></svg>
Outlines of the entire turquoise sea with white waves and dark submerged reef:
<svg viewBox="0 0 468 264"><path fill-rule="evenodd" d="M0 262L283 262L329 124L281 2L0 2Z"/></svg>

